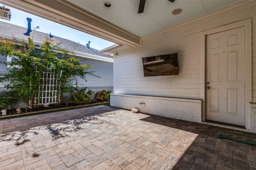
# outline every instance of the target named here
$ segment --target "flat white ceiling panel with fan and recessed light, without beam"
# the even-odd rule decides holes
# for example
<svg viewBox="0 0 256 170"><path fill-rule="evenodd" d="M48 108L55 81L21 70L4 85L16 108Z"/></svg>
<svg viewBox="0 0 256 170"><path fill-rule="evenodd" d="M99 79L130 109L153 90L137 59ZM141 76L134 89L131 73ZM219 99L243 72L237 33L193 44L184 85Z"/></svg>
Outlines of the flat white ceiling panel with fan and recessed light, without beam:
<svg viewBox="0 0 256 170"><path fill-rule="evenodd" d="M239 0L146 0L144 12L138 14L140 0L67 0L68 2L118 27L143 37L182 21L206 14ZM109 2L111 6L104 6ZM182 12L173 15L180 8Z"/></svg>

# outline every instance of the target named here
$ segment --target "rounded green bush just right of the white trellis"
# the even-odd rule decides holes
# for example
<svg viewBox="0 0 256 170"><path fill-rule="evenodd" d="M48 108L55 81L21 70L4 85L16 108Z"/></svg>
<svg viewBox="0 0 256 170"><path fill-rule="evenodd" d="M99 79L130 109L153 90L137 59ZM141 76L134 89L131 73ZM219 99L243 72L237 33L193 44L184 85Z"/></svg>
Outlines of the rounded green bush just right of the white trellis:
<svg viewBox="0 0 256 170"><path fill-rule="evenodd" d="M76 89L76 92L71 92L70 101L76 104L90 104L92 102L94 91L86 88L81 90Z"/></svg>

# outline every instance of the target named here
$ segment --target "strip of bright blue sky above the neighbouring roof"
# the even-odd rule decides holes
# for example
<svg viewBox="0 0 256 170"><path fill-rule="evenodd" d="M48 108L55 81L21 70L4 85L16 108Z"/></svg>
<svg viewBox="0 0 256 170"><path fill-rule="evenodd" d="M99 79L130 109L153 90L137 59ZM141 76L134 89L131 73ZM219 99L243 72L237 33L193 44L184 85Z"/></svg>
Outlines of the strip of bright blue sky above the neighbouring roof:
<svg viewBox="0 0 256 170"><path fill-rule="evenodd" d="M2 7L4 5L0 4L0 6ZM31 22L32 30L36 26L39 26L40 29L36 29L36 31L40 31L43 33L48 33L48 34L51 33L51 35L61 37L64 39L68 39L68 40L74 41L76 43L80 43L82 45L86 45L90 41L90 47L93 49L97 49L97 50L105 49L114 44L110 41L106 41L104 39L100 39L93 35L78 31L76 29L66 27L59 23L55 23L55 22L46 20L44 18L40 18L38 16L28 14L26 12L17 10L15 8L11 8L8 6L5 6L5 8L10 9L11 15L12 15L11 20L8 21L8 20L0 19L0 21L27 28L28 21L26 18L31 18L32 19L32 22Z"/></svg>

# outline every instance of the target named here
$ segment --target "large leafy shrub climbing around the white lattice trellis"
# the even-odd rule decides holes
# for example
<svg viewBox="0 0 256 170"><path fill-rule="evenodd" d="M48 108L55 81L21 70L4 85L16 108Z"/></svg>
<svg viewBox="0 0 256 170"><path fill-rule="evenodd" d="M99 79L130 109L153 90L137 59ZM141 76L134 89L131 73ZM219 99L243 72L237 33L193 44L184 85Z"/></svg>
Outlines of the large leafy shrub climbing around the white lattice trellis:
<svg viewBox="0 0 256 170"><path fill-rule="evenodd" d="M12 62L1 62L11 68L7 73L0 73L0 82L9 82L6 88L15 91L15 98L27 106L37 107L40 101L38 94L42 94L42 85L45 83L43 76L49 72L59 77L56 84L57 101L60 93L68 92L70 88L78 85L77 77L85 81L86 75L99 77L94 71L89 71L93 66L80 64L80 60L75 59L74 50L69 53L61 49L60 44L54 44L52 39L46 37L38 49L30 38L18 43L15 38L11 40L0 37L0 55L15 56ZM59 50L62 56L57 57L59 53L54 52L54 49Z"/></svg>

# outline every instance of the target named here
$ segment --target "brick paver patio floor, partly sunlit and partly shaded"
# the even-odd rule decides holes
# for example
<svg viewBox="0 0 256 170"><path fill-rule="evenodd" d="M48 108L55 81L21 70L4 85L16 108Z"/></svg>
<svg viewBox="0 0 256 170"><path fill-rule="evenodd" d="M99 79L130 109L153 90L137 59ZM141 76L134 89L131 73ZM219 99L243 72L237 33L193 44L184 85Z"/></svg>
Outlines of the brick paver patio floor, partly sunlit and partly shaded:
<svg viewBox="0 0 256 170"><path fill-rule="evenodd" d="M5 119L0 170L256 169L256 146L220 130L235 131L109 106Z"/></svg>

